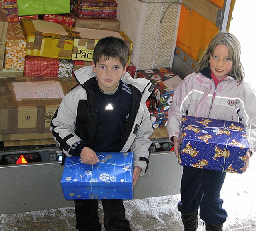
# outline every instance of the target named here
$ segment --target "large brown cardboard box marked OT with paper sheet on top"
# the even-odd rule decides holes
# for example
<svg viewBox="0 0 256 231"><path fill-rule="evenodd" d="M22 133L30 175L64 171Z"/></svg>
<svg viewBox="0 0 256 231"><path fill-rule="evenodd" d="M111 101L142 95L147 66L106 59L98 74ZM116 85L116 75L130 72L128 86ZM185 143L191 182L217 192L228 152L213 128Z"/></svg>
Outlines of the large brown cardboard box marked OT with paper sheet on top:
<svg viewBox="0 0 256 231"><path fill-rule="evenodd" d="M0 78L0 133L49 133L52 115L76 84L71 78Z"/></svg>

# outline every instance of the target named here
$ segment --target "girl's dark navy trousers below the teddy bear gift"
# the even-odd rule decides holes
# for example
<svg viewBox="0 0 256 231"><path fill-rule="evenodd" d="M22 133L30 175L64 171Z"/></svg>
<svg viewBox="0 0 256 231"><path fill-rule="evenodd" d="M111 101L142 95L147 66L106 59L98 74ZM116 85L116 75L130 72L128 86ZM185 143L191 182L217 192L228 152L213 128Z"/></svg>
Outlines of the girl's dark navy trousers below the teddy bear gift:
<svg viewBox="0 0 256 231"><path fill-rule="evenodd" d="M183 214L191 214L200 208L200 218L206 223L211 225L224 223L227 213L222 208L220 189L225 176L226 173L221 171L184 166L178 210Z"/></svg>

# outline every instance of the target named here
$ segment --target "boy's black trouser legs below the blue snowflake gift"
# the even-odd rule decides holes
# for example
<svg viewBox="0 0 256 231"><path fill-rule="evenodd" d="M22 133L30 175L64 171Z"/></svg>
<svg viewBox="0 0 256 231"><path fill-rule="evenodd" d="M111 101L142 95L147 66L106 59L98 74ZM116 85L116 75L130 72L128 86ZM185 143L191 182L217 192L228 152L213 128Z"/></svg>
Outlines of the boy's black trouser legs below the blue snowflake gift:
<svg viewBox="0 0 256 231"><path fill-rule="evenodd" d="M76 229L79 231L101 231L98 216L98 200L74 200L76 212ZM104 227L106 231L131 231L125 219L122 200L102 200Z"/></svg>

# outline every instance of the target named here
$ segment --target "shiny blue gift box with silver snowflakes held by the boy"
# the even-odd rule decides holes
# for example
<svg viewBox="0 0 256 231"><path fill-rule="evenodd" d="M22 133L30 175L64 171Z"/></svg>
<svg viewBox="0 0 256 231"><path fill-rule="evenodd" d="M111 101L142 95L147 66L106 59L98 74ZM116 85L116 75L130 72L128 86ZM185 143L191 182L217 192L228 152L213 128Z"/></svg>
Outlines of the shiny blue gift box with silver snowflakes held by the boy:
<svg viewBox="0 0 256 231"><path fill-rule="evenodd" d="M132 199L134 154L96 153L94 165L80 157L66 157L61 178L65 199Z"/></svg>

